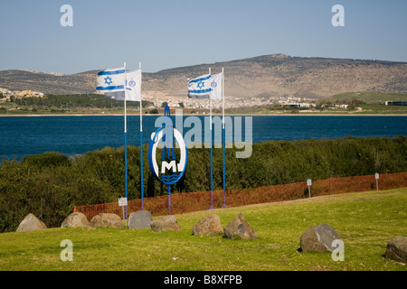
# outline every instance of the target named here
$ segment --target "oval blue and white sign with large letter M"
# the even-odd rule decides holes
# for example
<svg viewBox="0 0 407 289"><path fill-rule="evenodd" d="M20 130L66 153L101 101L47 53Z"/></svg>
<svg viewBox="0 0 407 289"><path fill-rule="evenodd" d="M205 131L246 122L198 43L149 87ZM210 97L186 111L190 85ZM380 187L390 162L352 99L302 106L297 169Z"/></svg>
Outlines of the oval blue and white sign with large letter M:
<svg viewBox="0 0 407 289"><path fill-rule="evenodd" d="M169 107L166 107L167 117L169 118ZM175 157L175 142L178 144L178 156ZM159 154L159 145L162 144L161 155ZM186 148L183 135L170 125L163 125L151 135L148 147L148 163L150 171L159 182L167 185L175 184L184 175L188 159L188 150Z"/></svg>

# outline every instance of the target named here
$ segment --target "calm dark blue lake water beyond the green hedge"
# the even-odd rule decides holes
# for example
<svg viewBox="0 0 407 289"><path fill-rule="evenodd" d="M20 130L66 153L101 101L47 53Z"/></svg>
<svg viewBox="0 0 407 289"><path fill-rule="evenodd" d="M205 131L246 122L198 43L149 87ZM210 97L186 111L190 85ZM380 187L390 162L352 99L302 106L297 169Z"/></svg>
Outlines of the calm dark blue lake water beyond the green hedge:
<svg viewBox="0 0 407 289"><path fill-rule="evenodd" d="M232 120L234 124L234 117ZM144 144L156 131L155 121L156 117L143 117ZM189 129L184 128L184 134ZM120 147L124 145L123 132L124 117L0 117L0 160L21 160L24 155L45 152L85 154L105 146ZM244 140L244 130L242 135ZM347 135L407 135L407 117L252 117L253 142ZM137 116L128 117L128 145L139 145Z"/></svg>

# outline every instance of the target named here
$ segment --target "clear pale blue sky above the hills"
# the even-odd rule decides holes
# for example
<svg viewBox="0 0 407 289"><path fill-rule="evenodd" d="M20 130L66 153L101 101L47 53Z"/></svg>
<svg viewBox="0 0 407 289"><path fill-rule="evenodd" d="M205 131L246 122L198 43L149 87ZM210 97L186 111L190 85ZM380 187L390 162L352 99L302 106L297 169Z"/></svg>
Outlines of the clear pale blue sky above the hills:
<svg viewBox="0 0 407 289"><path fill-rule="evenodd" d="M73 26L62 27L62 5ZM334 27L333 5L345 8ZM0 70L156 72L284 53L407 61L405 0L8 0L0 5Z"/></svg>

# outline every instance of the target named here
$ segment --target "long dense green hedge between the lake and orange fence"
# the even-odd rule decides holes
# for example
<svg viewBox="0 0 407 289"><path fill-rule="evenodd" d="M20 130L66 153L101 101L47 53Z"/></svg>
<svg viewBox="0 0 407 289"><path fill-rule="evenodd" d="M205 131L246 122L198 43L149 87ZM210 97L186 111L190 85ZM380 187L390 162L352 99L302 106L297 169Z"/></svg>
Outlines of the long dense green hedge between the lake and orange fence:
<svg viewBox="0 0 407 289"><path fill-rule="evenodd" d="M250 158L237 159L226 149L226 188L243 189L374 174L407 172L407 138L404 136L253 144ZM128 146L128 199L140 198L139 147ZM148 146L143 146L144 195L166 194L148 168ZM4 160L0 165L0 232L14 231L32 212L48 227L61 226L74 205L117 201L125 196L124 148L68 157L46 153ZM222 148L213 149L213 190L222 189ZM184 177L172 188L210 190L210 150L191 148Z"/></svg>

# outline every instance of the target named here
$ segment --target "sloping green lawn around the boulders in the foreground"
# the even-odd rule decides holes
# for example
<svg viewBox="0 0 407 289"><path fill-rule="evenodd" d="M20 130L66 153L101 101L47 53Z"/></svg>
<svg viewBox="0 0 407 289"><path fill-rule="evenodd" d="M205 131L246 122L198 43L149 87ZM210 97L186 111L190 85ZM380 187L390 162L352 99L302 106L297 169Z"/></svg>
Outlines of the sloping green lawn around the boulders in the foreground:
<svg viewBox="0 0 407 289"><path fill-rule="evenodd" d="M407 235L407 189L366 191L176 215L181 232L128 228L49 228L0 234L0 270L397 270L383 257L388 241ZM225 227L242 213L258 239L192 236L192 227L216 213ZM299 238L317 224L336 229L345 261L330 252L298 252ZM62 262L63 239L73 261Z"/></svg>

